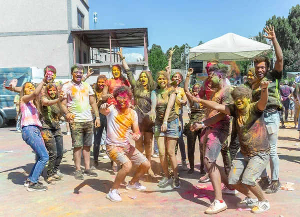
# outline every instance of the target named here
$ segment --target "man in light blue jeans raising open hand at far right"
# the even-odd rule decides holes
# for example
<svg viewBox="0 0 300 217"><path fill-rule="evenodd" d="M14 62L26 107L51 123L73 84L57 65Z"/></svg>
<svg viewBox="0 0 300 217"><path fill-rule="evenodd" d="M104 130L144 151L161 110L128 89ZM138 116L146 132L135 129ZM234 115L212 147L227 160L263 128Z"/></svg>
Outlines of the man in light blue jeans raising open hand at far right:
<svg viewBox="0 0 300 217"><path fill-rule="evenodd" d="M255 73L259 78L260 82L269 80L272 81L268 86L268 101L266 104L266 109L264 110L264 122L266 124L268 140L271 147L270 150L270 168L271 168L271 183L269 183L269 178L267 176L266 170L261 174L261 180L258 185L262 190L266 190L266 194L275 193L281 186L278 180L279 174L279 158L277 155L277 138L279 130L279 114L278 110L283 109L280 102L280 79L282 77L283 70L283 54L276 39L273 26L266 26L264 31L267 36L264 37L270 39L273 43L276 62L274 68L269 71L270 61L267 56L258 56L254 58ZM257 102L260 99L261 89L252 90L252 102Z"/></svg>

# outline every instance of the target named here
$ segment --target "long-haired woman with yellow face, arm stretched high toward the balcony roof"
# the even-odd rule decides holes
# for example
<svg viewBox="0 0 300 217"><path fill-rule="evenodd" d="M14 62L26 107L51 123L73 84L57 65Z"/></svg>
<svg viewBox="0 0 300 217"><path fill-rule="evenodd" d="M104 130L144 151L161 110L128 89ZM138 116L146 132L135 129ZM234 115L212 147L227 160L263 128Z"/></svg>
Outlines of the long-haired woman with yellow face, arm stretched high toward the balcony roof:
<svg viewBox="0 0 300 217"><path fill-rule="evenodd" d="M152 138L153 138L153 129L154 122L152 121L155 118L155 106L151 108L151 91L155 89L156 83L153 81L152 75L148 71L142 71L138 80L134 79L134 76L128 67L125 57L122 54L122 48L117 52L120 59L122 60L123 68L125 69L128 81L133 89L134 95L134 111L138 117L138 127L141 133L141 136L138 140L135 141L135 148L143 153L145 151L146 158L151 162L151 152L152 152ZM154 173L151 168L148 171L150 176L153 176Z"/></svg>

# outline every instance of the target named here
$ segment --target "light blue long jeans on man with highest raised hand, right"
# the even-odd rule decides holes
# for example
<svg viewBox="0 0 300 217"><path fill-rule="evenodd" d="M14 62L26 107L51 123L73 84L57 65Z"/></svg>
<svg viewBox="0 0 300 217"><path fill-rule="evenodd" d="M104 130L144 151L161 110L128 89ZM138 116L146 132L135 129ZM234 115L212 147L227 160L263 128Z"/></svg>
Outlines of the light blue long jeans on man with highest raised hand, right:
<svg viewBox="0 0 300 217"><path fill-rule="evenodd" d="M271 168L271 180L278 180L279 175L279 158L277 154L277 138L279 131L279 114L278 112L275 114L269 115L269 113L263 113L264 122L267 129L267 137L271 147L270 150L270 168ZM264 169L261 173L261 177L266 177L267 172Z"/></svg>

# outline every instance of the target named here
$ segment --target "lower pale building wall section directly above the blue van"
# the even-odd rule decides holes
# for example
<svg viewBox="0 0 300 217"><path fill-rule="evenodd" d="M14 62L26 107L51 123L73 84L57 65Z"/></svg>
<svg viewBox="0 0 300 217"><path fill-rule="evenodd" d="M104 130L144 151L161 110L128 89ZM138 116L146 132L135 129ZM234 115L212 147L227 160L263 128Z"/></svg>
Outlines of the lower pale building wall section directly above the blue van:
<svg viewBox="0 0 300 217"><path fill-rule="evenodd" d="M0 67L53 65L57 76L69 75L67 39L68 34L0 37Z"/></svg>

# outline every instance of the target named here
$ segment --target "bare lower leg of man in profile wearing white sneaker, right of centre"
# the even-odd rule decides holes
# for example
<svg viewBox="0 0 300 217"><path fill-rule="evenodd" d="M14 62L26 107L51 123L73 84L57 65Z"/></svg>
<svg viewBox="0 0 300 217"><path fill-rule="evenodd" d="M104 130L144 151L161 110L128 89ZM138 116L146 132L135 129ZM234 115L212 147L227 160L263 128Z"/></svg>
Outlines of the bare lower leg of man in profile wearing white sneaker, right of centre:
<svg viewBox="0 0 300 217"><path fill-rule="evenodd" d="M207 158L204 158L204 165L207 168L209 178L211 180L214 191L214 199L222 201L221 176L217 165L215 163L208 162Z"/></svg>

